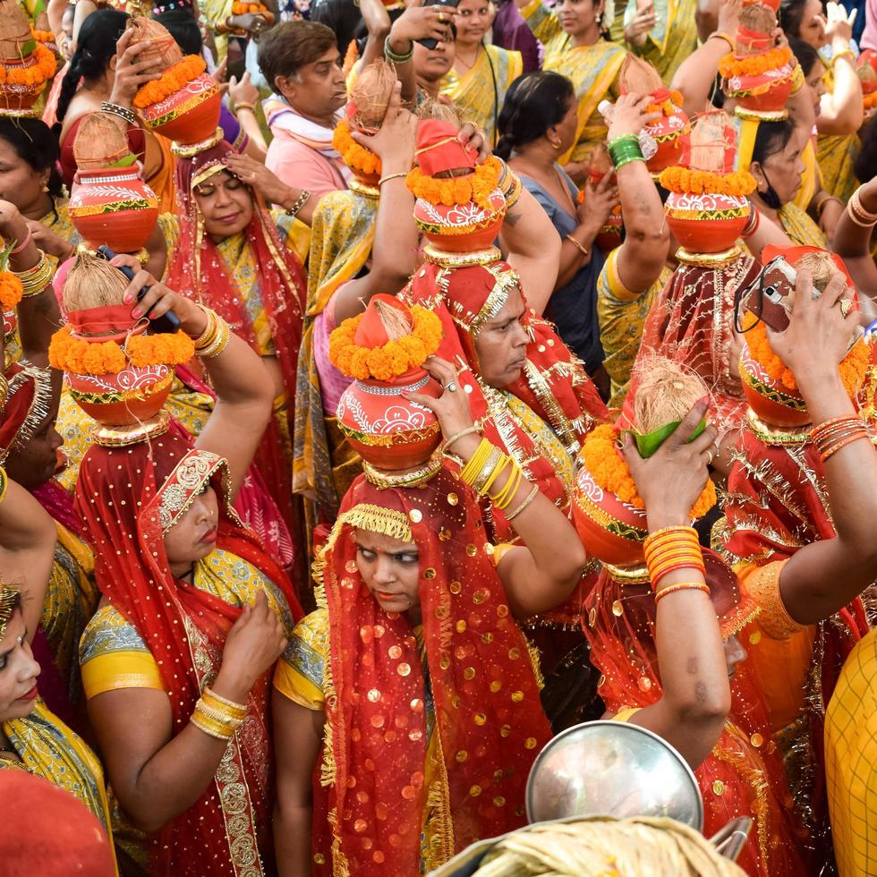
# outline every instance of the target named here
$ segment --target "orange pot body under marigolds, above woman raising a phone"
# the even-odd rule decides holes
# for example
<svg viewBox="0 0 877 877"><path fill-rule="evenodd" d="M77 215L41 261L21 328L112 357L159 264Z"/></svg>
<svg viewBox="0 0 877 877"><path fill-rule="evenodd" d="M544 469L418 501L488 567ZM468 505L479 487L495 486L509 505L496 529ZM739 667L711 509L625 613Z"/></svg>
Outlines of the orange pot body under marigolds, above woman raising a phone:
<svg viewBox="0 0 877 877"><path fill-rule="evenodd" d="M89 417L108 427L132 426L161 411L173 384L167 365L130 365L115 374L64 372L73 400Z"/></svg>

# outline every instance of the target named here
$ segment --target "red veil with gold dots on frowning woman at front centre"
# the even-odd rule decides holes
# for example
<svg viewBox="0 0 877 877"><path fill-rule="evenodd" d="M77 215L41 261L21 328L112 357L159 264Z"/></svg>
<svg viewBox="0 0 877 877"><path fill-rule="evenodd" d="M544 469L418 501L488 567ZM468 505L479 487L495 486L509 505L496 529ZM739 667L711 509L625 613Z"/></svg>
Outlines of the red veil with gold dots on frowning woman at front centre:
<svg viewBox="0 0 877 877"><path fill-rule="evenodd" d="M417 544L422 656L408 618L363 583L356 528ZM550 730L491 554L472 491L447 469L416 490L361 475L347 491L315 564L331 694L314 873L342 873L333 852L351 875L419 873L426 808L430 867L524 824L527 775Z"/></svg>

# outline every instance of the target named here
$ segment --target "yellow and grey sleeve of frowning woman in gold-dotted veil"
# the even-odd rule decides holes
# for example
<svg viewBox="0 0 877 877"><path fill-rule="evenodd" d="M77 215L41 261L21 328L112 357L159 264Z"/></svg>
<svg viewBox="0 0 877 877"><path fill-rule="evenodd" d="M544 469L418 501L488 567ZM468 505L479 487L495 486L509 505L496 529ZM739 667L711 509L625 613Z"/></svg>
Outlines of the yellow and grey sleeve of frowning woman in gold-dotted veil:
<svg viewBox="0 0 877 877"><path fill-rule="evenodd" d="M307 710L322 711L328 658L328 612L317 609L295 626L274 671L274 687Z"/></svg>

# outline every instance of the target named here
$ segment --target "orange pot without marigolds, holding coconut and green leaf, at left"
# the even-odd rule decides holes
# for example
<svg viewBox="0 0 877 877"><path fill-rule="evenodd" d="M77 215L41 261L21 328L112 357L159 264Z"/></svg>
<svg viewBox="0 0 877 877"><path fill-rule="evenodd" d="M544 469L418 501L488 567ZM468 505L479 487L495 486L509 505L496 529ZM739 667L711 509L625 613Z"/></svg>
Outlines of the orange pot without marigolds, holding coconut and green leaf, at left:
<svg viewBox="0 0 877 877"><path fill-rule="evenodd" d="M158 198L136 167L79 171L68 209L73 226L92 249L106 243L115 252L137 252L158 222Z"/></svg>

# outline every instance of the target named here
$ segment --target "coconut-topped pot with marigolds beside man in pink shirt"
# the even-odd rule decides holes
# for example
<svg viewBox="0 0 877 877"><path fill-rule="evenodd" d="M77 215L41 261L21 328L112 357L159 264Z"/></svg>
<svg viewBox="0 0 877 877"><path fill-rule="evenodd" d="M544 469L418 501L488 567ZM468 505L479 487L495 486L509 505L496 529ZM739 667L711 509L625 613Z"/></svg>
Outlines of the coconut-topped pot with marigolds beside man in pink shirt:
<svg viewBox="0 0 877 877"><path fill-rule="evenodd" d="M396 71L381 59L366 67L353 83L345 107L345 117L332 132L332 145L353 171L354 191L362 186L377 194L380 180L380 158L370 149L353 140L351 132L376 134L387 112L387 104L396 85Z"/></svg>

